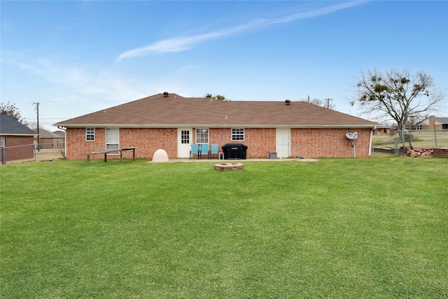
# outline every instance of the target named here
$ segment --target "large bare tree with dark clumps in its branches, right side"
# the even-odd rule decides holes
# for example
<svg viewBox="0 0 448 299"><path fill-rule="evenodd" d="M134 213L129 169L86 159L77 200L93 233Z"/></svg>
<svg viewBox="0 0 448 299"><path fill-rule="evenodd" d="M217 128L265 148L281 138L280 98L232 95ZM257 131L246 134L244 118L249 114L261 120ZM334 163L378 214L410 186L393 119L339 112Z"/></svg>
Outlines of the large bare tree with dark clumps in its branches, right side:
<svg viewBox="0 0 448 299"><path fill-rule="evenodd" d="M430 111L437 111L444 95L434 86L433 78L424 71L410 74L409 70L390 69L381 73L360 71L357 78L357 99L363 113L373 115L378 120L393 118L398 130L405 130L410 118L419 118ZM405 146L402 134L403 148Z"/></svg>

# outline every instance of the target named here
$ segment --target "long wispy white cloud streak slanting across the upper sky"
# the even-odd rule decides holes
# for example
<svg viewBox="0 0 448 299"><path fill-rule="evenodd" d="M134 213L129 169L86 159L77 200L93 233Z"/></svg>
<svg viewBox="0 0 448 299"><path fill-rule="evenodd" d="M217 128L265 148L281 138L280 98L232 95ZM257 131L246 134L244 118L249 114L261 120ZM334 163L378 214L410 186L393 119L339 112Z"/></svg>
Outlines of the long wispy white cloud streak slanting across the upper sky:
<svg viewBox="0 0 448 299"><path fill-rule="evenodd" d="M204 41L209 41L212 39L219 39L226 36L232 36L235 34L241 34L244 32L248 32L249 30L257 30L266 28L272 25L293 22L295 20L305 19L305 18L314 18L319 15L327 15L329 13L334 13L335 11L342 10L344 8L350 8L353 6L358 6L360 4L365 3L365 1L351 1L343 4L336 4L332 6L326 6L324 8L319 8L314 11L307 11L303 13L297 13L293 15L286 15L281 18L273 18L273 19L259 19L253 20L252 22L248 22L246 24L231 27L228 29L218 30L216 32L210 32L207 34L199 34L196 36L183 36L183 37L174 37L171 39L164 39L162 41L156 41L155 43L151 43L148 46L144 46L141 48L128 50L122 54L120 54L117 58L117 61L123 60L125 58L132 57L141 57L144 55L148 55L150 53L170 53L170 52L182 52L185 50L189 50L196 46L199 43Z"/></svg>

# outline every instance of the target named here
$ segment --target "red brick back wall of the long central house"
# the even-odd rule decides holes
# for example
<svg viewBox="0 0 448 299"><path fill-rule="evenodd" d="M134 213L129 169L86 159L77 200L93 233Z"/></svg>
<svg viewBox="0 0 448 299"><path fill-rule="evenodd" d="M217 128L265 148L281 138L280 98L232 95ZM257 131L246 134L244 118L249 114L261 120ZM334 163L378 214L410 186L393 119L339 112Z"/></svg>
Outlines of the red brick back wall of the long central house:
<svg viewBox="0 0 448 299"><path fill-rule="evenodd" d="M291 129L290 155L303 158L353 158L351 141L346 139L348 132L358 132L356 139L356 157L367 158L370 142L370 129ZM163 129L120 129L120 147L137 147L136 158L153 158L159 148L167 151L170 159L175 159L178 141L177 128ZM106 130L95 129L95 140L85 140L85 128L67 128L66 158L68 160L83 160L85 154L106 148ZM192 141L195 140L193 128ZM230 128L209 128L209 144L245 144L248 146L247 158L267 158L269 151L276 151L275 128L246 128L243 141L232 141ZM132 158L132 152L124 151L125 158ZM91 159L102 159L103 155L92 155ZM118 155L108 155L109 158L118 158Z"/></svg>

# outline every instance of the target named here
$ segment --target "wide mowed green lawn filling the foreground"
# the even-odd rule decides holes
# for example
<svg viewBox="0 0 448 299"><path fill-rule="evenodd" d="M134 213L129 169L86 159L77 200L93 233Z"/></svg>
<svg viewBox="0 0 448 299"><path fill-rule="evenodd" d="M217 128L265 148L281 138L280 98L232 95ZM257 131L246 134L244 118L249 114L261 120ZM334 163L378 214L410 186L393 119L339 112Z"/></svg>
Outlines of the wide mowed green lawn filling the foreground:
<svg viewBox="0 0 448 299"><path fill-rule="evenodd" d="M448 159L0 167L0 298L448 298Z"/></svg>

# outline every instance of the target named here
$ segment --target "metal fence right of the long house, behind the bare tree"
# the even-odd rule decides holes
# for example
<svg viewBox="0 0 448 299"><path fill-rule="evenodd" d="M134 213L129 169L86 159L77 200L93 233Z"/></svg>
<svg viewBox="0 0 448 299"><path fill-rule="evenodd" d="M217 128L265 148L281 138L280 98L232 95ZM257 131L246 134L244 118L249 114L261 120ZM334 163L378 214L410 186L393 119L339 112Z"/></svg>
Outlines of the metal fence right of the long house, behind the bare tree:
<svg viewBox="0 0 448 299"><path fill-rule="evenodd" d="M448 148L448 130L405 130L405 146L411 148ZM404 153L402 132L393 136L374 136L373 151L389 151L395 155Z"/></svg>

